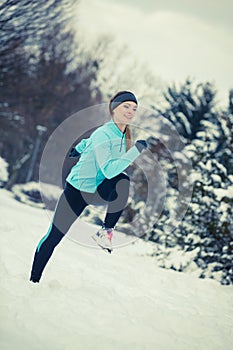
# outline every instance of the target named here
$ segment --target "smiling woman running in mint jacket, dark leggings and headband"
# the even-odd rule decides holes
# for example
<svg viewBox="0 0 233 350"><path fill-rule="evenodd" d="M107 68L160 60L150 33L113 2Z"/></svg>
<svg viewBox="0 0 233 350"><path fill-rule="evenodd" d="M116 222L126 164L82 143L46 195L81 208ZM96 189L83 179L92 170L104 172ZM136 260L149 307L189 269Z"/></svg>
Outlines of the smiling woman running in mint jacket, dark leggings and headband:
<svg viewBox="0 0 233 350"><path fill-rule="evenodd" d="M133 93L118 92L109 103L111 120L76 145L73 153L80 159L66 178L49 231L36 248L32 282L40 281L54 248L89 204L107 204L103 226L92 238L111 253L113 230L129 195L129 177L123 171L147 147L144 140L130 147L129 124L137 104Z"/></svg>

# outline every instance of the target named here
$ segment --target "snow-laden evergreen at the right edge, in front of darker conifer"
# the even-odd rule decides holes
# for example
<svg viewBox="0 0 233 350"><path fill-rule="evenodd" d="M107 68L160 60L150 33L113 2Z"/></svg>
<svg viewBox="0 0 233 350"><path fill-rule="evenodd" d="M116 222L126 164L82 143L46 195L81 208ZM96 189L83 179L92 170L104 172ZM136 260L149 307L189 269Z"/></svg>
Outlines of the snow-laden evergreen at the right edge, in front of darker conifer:
<svg viewBox="0 0 233 350"><path fill-rule="evenodd" d="M185 250L198 248L194 261L203 270L201 277L217 278L229 284L233 283L233 176L217 157L223 130L225 154L230 152L232 144L228 142L227 128L219 129L218 124L206 121L202 125L205 131L199 132L198 139L186 147L193 159L194 190L176 235L183 235L180 244Z"/></svg>

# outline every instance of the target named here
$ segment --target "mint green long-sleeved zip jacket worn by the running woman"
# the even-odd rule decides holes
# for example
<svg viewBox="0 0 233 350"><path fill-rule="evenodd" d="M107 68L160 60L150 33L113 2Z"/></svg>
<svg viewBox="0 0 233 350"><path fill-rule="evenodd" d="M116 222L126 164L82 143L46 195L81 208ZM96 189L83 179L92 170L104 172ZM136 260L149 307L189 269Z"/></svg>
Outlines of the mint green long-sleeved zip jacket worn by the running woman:
<svg viewBox="0 0 233 350"><path fill-rule="evenodd" d="M94 193L104 179L122 173L140 155L135 145L126 151L126 135L113 119L96 129L88 139L83 139L75 149L81 157L66 181L89 193Z"/></svg>

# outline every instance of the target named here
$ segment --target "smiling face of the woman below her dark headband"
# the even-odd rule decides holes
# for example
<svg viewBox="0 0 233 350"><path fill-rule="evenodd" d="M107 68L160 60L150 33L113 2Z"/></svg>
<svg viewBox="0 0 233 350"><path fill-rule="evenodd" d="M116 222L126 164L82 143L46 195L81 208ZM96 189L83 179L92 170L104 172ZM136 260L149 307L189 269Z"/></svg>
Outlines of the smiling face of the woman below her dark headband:
<svg viewBox="0 0 233 350"><path fill-rule="evenodd" d="M113 110L113 119L115 123L125 127L130 124L137 110L137 104L133 101L121 103Z"/></svg>

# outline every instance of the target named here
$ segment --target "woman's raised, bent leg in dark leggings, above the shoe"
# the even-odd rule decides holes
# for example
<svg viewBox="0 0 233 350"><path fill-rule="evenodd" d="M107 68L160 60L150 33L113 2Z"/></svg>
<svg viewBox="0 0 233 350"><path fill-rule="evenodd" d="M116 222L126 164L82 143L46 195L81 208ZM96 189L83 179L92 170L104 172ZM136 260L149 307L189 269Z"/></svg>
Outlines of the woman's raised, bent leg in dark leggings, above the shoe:
<svg viewBox="0 0 233 350"><path fill-rule="evenodd" d="M108 202L104 220L105 228L113 228L118 222L129 197L129 176L121 173L112 179L105 179L98 187L99 195Z"/></svg>

